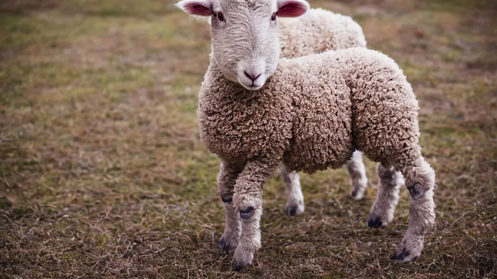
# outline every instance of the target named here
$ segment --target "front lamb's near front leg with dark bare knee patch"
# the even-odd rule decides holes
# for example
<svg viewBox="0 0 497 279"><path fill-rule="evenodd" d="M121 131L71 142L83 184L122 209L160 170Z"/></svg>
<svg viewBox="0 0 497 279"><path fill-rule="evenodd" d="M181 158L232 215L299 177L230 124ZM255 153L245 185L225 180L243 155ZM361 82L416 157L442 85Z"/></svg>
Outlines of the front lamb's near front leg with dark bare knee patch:
<svg viewBox="0 0 497 279"><path fill-rule="evenodd" d="M233 256L233 270L241 271L252 263L260 248L260 217L262 216L262 184L271 176L279 160L248 161L235 184L233 205L240 212L242 235Z"/></svg>

